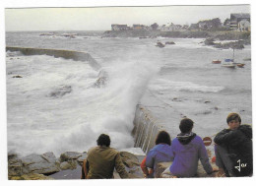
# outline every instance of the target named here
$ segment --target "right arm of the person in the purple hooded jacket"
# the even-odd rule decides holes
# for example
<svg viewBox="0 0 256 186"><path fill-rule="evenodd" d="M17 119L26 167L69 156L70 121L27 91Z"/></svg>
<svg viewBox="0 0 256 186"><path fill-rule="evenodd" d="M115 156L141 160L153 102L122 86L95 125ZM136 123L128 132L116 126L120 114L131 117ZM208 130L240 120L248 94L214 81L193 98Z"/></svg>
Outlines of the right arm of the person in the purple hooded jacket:
<svg viewBox="0 0 256 186"><path fill-rule="evenodd" d="M214 170L213 170L212 165L209 162L209 157L207 155L206 147L205 147L202 139L201 139L200 147L199 147L199 158L200 158L200 161L201 161L205 171L208 174L213 173Z"/></svg>

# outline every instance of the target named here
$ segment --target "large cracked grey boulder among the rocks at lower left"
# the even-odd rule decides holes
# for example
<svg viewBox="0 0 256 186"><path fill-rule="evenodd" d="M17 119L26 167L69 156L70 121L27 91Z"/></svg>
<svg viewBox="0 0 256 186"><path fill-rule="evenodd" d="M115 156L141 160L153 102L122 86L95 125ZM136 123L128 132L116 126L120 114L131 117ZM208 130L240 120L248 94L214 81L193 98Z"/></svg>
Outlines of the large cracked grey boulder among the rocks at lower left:
<svg viewBox="0 0 256 186"><path fill-rule="evenodd" d="M59 168L56 165L56 157L52 153L43 155L27 155L22 157L23 173L39 173L51 174L58 172Z"/></svg>

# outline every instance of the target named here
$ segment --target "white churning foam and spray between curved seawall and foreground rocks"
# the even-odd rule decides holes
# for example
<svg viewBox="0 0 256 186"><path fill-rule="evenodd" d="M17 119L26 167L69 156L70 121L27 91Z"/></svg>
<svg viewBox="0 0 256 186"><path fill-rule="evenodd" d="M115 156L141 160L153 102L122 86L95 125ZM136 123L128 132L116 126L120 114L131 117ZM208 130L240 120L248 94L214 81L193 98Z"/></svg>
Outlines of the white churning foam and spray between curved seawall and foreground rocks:
<svg viewBox="0 0 256 186"><path fill-rule="evenodd" d="M105 86L88 63L50 56L7 57L8 149L22 155L87 151L106 133L117 149L134 145L136 104L159 71L147 61L113 61ZM20 75L23 78L13 78Z"/></svg>

